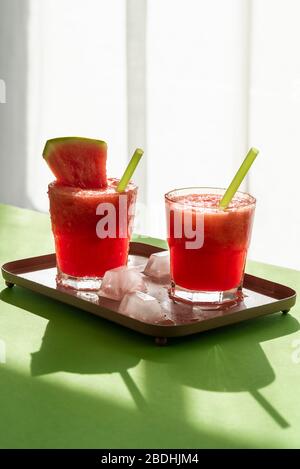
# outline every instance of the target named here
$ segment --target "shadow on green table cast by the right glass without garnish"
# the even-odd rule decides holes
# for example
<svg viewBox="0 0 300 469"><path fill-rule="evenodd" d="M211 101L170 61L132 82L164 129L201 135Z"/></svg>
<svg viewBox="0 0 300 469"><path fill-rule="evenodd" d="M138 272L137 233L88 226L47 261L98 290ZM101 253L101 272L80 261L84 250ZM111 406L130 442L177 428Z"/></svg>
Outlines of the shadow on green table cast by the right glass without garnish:
<svg viewBox="0 0 300 469"><path fill-rule="evenodd" d="M260 393L275 380L260 343L298 330L295 318L277 313L204 333L184 344L176 341L176 352L169 347L164 359L175 381L207 391L249 392L278 425L287 428L289 423Z"/></svg>

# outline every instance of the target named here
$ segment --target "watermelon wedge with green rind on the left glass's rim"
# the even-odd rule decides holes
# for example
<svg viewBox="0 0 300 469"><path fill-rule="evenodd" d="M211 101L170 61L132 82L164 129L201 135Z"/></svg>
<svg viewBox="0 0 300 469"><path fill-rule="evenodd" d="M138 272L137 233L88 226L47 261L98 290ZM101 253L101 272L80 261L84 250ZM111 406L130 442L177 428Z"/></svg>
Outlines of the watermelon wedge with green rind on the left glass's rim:
<svg viewBox="0 0 300 469"><path fill-rule="evenodd" d="M43 157L57 181L83 189L107 186L107 145L102 140L59 137L47 140Z"/></svg>

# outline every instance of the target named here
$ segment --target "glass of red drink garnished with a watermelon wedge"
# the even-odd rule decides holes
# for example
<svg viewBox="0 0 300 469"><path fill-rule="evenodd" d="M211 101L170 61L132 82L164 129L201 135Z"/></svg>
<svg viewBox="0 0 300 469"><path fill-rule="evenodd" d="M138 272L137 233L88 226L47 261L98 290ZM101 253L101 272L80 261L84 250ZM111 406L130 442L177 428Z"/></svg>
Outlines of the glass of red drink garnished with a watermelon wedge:
<svg viewBox="0 0 300 469"><path fill-rule="evenodd" d="M57 283L98 290L107 270L127 264L137 187L106 177L105 142L48 140L43 156L56 176L49 184Z"/></svg>

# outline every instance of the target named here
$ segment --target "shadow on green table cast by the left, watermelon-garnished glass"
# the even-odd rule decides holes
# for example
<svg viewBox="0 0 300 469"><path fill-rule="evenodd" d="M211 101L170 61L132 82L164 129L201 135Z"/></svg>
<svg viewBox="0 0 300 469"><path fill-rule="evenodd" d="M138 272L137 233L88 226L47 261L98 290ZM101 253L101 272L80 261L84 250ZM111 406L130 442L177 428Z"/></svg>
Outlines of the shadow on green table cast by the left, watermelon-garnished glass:
<svg viewBox="0 0 300 469"><path fill-rule="evenodd" d="M121 327L20 287L2 290L0 299L48 320L40 350L31 354L33 377L59 371L80 374L118 372L136 405L139 408L145 406L128 371L141 359L137 350L144 341L138 334L127 331L124 334Z"/></svg>

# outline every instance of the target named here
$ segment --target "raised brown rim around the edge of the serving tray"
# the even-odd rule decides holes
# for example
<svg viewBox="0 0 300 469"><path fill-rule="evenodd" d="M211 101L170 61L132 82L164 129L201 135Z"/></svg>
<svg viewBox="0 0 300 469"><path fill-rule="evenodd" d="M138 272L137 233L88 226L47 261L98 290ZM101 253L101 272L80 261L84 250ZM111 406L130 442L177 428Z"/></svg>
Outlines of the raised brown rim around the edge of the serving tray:
<svg viewBox="0 0 300 469"><path fill-rule="evenodd" d="M147 257L154 252L161 252L165 250L166 249L154 246L152 244L143 243L140 241L132 241L130 243L129 253ZM35 268L30 270L28 270L28 268L26 269L26 265L28 266L28 263L33 262L33 260L36 262ZM231 324L238 324L246 320L255 319L280 311L288 312L290 308L292 308L296 303L297 293L291 287L245 273L244 283L246 284L246 288L257 293L262 293L275 301L261 306L253 306L244 310L234 311L232 314L228 313L224 316L217 316L193 323L177 325L149 324L137 319L130 318L128 316L124 316L106 307L99 306L82 298L69 295L66 292L56 290L20 276L22 273L34 272L41 270L42 268L53 268L55 265L55 254L46 254L42 256L28 257L6 262L2 265L1 272L6 285L9 287L18 285L27 288L35 293L39 293L54 300L61 301L68 305L82 309L85 312L94 314L100 318L107 319L123 327L156 338L188 336ZM258 289L257 283L264 284L266 289ZM252 288L249 288L251 286ZM285 292L283 296L279 295L278 292L280 290ZM273 295L271 294L272 292Z"/></svg>

